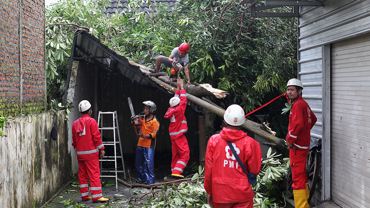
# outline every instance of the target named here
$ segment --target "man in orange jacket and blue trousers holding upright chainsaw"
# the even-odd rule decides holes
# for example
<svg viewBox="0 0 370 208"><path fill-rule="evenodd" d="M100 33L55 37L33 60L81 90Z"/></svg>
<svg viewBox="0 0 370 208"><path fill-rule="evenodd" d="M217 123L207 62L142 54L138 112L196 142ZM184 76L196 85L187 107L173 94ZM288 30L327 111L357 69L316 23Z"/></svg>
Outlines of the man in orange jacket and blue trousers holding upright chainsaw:
<svg viewBox="0 0 370 208"><path fill-rule="evenodd" d="M159 122L154 113L157 110L157 105L153 101L144 101L141 103L144 107L144 119L141 119L141 127L138 135L140 136L136 155L135 168L139 183L154 184L154 149L155 140L157 138L157 131L159 129Z"/></svg>

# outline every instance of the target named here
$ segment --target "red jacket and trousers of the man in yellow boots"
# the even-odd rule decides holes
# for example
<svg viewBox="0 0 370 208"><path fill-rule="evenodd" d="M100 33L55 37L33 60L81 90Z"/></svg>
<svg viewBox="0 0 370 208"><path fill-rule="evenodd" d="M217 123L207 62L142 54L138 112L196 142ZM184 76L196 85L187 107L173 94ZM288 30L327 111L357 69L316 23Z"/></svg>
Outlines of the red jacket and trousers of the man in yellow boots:
<svg viewBox="0 0 370 208"><path fill-rule="evenodd" d="M302 96L299 96L293 102L290 110L288 134L286 135L286 141L296 148L296 150L293 150L293 148L289 150L293 190L306 188L308 182L306 163L311 141L310 130L316 121L317 118L311 111L310 106L302 99Z"/></svg>

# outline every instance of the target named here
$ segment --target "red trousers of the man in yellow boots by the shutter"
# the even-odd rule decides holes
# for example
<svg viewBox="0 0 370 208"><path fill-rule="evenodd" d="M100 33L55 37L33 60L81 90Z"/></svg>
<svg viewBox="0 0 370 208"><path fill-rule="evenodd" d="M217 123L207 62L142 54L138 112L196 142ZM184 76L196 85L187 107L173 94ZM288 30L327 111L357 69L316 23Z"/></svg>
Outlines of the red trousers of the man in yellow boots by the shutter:
<svg viewBox="0 0 370 208"><path fill-rule="evenodd" d="M307 154L309 150L293 150L289 148L290 167L292 167L293 190L306 189L308 182L306 173Z"/></svg>

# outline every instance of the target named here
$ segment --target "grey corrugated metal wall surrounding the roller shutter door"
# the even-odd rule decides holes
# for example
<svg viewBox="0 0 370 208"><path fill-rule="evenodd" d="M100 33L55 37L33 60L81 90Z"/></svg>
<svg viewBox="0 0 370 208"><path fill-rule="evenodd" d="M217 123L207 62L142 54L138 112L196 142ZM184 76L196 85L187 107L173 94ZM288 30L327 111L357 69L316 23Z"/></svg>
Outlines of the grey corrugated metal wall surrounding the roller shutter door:
<svg viewBox="0 0 370 208"><path fill-rule="evenodd" d="M326 135L322 184L318 184L314 195L319 200L330 199L331 192L336 192L330 188L330 44L370 32L369 0L326 0L323 4L324 7L300 7L298 25L298 78L305 87L303 98L318 118L311 133L317 138Z"/></svg>

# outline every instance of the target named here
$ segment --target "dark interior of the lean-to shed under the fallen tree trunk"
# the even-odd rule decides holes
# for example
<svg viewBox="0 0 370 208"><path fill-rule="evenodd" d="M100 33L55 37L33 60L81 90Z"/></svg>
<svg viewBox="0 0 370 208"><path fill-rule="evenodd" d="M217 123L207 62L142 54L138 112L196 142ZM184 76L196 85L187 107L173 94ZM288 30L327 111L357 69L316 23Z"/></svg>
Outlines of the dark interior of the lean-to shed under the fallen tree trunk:
<svg viewBox="0 0 370 208"><path fill-rule="evenodd" d="M150 80L139 67L129 64L127 58L118 55L102 44L100 40L87 33L79 33L74 38L73 57L74 60L79 61L75 86L71 86L74 87L73 104L77 106L81 100L89 100L92 104L92 117L95 120L98 120L99 111L117 111L122 152L127 165L126 169L131 170L131 173L134 173L134 155L138 136L131 124L127 98L131 98L135 114L143 111L141 105L143 101L151 100L157 105L155 116L160 127L155 146L155 174L160 171L168 171L169 173L172 154L171 140L168 132L169 120L164 118L164 115L169 107L168 101L174 94ZM185 111L188 121L186 138L191 155L188 164L199 162L198 117L202 115L202 108L195 106L195 104L191 104L191 106L188 105ZM112 116L105 115L100 123L105 124L105 127L112 127L112 122ZM103 139L113 141L113 130L101 131ZM106 147L108 155L114 154L112 146L110 147ZM121 162L117 161L120 166ZM162 168L158 166L162 166L166 170L161 170Z"/></svg>

